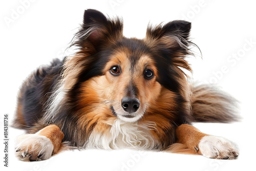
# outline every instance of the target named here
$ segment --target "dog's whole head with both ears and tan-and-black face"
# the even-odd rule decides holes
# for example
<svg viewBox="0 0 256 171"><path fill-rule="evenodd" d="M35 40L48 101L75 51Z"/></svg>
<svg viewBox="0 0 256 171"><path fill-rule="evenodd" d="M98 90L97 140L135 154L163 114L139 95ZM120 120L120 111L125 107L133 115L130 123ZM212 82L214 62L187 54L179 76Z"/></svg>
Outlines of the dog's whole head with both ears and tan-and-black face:
<svg viewBox="0 0 256 171"><path fill-rule="evenodd" d="M110 117L128 122L159 110L179 110L178 103L186 100L181 68L190 71L184 59L190 54L190 23L148 26L144 39L124 37L122 28L119 18L84 12L72 44L79 52L66 61L64 72L75 106L87 113L109 111Z"/></svg>

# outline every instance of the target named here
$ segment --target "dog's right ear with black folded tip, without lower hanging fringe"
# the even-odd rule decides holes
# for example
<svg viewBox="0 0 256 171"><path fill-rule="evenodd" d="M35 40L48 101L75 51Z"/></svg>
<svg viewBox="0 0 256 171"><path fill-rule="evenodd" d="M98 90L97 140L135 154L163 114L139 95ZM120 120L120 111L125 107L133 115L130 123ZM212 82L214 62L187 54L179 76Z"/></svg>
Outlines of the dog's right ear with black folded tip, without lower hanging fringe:
<svg viewBox="0 0 256 171"><path fill-rule="evenodd" d="M150 46L164 46L174 54L178 53L185 56L189 53L190 29L191 23L184 20L174 20L165 25L148 26L145 39Z"/></svg>

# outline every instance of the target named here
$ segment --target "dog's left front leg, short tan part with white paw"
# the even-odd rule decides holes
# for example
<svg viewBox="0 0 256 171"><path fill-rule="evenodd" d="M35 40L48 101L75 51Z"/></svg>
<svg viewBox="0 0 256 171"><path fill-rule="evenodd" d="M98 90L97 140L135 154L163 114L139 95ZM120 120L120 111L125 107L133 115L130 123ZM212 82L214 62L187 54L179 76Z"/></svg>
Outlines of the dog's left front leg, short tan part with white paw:
<svg viewBox="0 0 256 171"><path fill-rule="evenodd" d="M56 125L48 125L35 134L18 137L15 155L23 161L49 159L61 146L64 134Z"/></svg>

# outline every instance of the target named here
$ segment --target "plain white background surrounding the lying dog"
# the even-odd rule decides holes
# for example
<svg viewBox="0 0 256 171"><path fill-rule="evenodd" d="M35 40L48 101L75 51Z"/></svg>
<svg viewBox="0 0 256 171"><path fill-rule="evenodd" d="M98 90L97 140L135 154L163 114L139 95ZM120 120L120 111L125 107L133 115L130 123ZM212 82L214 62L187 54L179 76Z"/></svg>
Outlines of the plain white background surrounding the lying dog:
<svg viewBox="0 0 256 171"><path fill-rule="evenodd" d="M27 3L22 3L27 2ZM1 98L0 137L3 115L12 119L20 84L38 66L62 58L82 22L85 9L122 16L124 35L143 38L148 23L175 19L192 23L191 37L200 56L189 59L195 81L216 82L241 101L239 123L195 123L199 130L226 137L240 148L237 160L214 160L203 156L137 151L69 151L50 160L22 162L14 156L15 137L24 131L9 129L9 167L4 170L242 170L255 168L255 52L256 25L253 1L1 1ZM250 43L248 43L250 42ZM237 58L235 58L237 56ZM254 159L253 159L254 158ZM2 170L1 168L1 170Z"/></svg>

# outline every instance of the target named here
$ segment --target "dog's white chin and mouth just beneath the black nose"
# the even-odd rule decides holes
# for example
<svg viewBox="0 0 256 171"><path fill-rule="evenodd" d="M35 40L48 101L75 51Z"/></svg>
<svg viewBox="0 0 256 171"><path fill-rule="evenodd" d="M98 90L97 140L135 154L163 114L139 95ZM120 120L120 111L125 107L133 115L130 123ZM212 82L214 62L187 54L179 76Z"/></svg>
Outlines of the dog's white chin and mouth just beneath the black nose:
<svg viewBox="0 0 256 171"><path fill-rule="evenodd" d="M127 112L123 112L122 110L115 110L113 106L111 106L110 109L112 110L113 115L124 122L136 122L143 116L143 113L139 112L129 114Z"/></svg>

